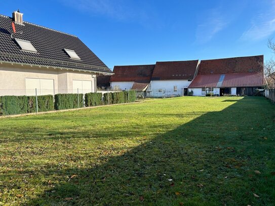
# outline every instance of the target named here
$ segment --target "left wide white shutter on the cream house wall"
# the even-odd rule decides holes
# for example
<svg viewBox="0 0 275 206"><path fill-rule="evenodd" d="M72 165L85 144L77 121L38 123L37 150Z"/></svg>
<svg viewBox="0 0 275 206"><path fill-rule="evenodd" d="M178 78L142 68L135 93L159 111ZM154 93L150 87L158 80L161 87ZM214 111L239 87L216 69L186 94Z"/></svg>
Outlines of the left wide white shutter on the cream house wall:
<svg viewBox="0 0 275 206"><path fill-rule="evenodd" d="M26 78L26 95L54 95L54 79Z"/></svg>

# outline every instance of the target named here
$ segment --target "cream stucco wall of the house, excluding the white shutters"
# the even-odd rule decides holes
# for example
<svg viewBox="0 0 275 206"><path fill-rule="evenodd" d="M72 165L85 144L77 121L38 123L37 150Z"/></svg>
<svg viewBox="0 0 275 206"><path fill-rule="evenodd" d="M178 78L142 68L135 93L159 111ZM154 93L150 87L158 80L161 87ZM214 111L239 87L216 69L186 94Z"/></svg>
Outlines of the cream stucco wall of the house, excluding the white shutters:
<svg viewBox="0 0 275 206"><path fill-rule="evenodd" d="M26 95L26 78L53 79L54 94L70 93L74 79L90 80L95 92L95 73L92 72L3 63L0 64L0 96Z"/></svg>

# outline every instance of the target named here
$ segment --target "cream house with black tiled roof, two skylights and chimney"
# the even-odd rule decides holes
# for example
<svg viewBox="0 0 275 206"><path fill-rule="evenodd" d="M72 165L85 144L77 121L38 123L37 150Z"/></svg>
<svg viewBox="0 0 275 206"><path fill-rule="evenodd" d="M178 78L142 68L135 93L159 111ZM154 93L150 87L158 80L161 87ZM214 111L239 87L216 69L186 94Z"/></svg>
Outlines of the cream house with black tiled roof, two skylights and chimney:
<svg viewBox="0 0 275 206"><path fill-rule="evenodd" d="M23 21L19 11L0 15L0 96L95 92L100 74L112 72L77 36Z"/></svg>

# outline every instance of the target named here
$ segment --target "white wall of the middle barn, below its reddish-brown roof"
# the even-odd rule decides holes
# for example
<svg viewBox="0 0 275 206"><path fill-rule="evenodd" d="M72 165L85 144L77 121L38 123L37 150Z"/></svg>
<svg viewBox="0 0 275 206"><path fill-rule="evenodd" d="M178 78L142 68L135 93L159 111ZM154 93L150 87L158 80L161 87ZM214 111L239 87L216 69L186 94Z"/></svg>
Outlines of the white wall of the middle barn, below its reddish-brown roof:
<svg viewBox="0 0 275 206"><path fill-rule="evenodd" d="M188 80L151 80L147 89L147 96L162 97L169 95L183 95L183 89L187 88L191 84ZM174 91L174 86L177 87L177 91ZM162 92L159 92L159 90Z"/></svg>

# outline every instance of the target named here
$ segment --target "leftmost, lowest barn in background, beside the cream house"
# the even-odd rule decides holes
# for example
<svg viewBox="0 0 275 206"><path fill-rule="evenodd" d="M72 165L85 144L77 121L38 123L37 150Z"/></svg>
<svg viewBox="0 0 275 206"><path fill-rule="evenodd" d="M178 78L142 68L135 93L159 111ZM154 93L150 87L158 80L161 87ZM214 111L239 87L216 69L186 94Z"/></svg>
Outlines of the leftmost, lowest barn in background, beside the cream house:
<svg viewBox="0 0 275 206"><path fill-rule="evenodd" d="M114 66L110 77L113 90L146 91L155 65Z"/></svg>

